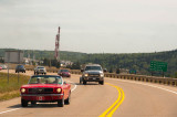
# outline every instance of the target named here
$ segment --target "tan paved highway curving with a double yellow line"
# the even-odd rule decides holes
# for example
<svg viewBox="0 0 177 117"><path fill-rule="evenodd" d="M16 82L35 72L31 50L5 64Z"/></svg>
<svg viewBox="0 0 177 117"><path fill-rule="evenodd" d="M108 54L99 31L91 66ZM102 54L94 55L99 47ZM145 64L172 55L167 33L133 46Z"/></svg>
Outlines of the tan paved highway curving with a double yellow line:
<svg viewBox="0 0 177 117"><path fill-rule="evenodd" d="M18 97L0 103L0 117L103 117L111 106L106 115L113 113L113 117L177 117L177 87L108 77L105 85L80 85L79 77L65 78L72 82L71 105L38 104L21 108Z"/></svg>

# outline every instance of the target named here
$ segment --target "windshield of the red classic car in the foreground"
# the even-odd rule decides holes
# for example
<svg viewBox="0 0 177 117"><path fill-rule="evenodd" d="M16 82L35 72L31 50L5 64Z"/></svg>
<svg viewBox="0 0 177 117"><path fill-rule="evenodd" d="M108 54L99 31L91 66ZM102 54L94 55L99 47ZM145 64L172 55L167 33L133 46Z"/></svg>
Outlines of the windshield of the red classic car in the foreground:
<svg viewBox="0 0 177 117"><path fill-rule="evenodd" d="M62 84L60 76L32 76L29 84Z"/></svg>

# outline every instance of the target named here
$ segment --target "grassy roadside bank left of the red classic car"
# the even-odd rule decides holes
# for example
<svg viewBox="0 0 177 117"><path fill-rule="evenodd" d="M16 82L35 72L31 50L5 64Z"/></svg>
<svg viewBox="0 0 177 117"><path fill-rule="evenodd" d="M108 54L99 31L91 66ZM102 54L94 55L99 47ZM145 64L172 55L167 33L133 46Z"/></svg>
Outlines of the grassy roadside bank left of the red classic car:
<svg viewBox="0 0 177 117"><path fill-rule="evenodd" d="M18 83L18 74L9 74L8 84L7 73L0 73L0 102L20 96L20 86L27 84L30 76L19 75L19 77Z"/></svg>

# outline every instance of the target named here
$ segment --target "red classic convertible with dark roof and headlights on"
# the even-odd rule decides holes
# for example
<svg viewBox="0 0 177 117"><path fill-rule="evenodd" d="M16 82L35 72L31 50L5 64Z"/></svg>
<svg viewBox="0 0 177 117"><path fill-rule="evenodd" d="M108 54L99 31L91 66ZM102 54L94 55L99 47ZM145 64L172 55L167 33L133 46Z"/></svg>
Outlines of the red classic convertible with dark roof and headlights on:
<svg viewBox="0 0 177 117"><path fill-rule="evenodd" d="M31 76L29 84L20 88L21 106L27 107L37 103L55 103L59 107L70 104L71 85L63 82L56 75L34 75Z"/></svg>

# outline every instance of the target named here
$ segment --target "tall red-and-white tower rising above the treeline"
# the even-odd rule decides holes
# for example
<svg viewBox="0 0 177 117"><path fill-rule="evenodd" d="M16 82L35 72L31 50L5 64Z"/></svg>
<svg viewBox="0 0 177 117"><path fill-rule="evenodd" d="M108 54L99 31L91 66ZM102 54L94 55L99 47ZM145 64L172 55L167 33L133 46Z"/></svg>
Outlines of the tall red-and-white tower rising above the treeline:
<svg viewBox="0 0 177 117"><path fill-rule="evenodd" d="M54 55L54 57L60 62L59 46L60 46L60 26L55 38L55 55Z"/></svg>

